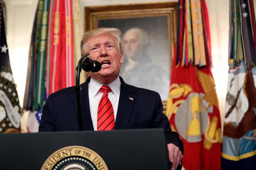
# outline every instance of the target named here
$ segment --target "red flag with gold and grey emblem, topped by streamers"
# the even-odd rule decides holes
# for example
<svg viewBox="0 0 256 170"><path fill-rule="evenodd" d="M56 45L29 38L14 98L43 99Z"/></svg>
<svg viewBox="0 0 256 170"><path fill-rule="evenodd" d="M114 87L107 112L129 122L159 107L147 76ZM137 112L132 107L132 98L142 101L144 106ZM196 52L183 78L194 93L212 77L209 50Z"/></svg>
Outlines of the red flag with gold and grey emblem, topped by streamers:
<svg viewBox="0 0 256 170"><path fill-rule="evenodd" d="M220 170L221 119L205 1L179 0L177 28L166 115L183 140L183 168Z"/></svg>

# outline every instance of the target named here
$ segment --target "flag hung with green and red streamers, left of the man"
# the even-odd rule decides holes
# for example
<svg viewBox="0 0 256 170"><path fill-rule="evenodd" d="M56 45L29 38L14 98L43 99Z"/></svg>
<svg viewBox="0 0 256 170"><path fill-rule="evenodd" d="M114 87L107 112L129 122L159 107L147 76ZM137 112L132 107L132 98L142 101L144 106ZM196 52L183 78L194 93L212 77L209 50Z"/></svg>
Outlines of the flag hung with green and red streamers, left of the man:
<svg viewBox="0 0 256 170"><path fill-rule="evenodd" d="M29 110L28 132L38 131L46 98L75 85L81 32L79 0L38 1L23 106Z"/></svg>

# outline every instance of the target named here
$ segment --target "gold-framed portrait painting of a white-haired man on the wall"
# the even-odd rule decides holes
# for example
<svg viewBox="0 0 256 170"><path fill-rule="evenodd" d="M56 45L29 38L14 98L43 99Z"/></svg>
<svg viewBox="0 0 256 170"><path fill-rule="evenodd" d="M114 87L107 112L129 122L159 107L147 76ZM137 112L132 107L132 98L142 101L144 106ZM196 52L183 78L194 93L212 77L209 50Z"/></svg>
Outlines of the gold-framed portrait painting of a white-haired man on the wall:
<svg viewBox="0 0 256 170"><path fill-rule="evenodd" d="M168 98L174 49L177 2L85 7L85 31L121 30L125 61L120 76L128 84Z"/></svg>

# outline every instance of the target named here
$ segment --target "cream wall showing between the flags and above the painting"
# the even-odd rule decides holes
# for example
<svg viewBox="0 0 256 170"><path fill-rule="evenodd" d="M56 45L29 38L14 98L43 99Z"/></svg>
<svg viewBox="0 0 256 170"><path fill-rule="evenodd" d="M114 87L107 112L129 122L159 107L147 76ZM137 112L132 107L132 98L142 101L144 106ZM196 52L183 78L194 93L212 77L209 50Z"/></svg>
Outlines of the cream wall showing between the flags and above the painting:
<svg viewBox="0 0 256 170"><path fill-rule="evenodd" d="M170 0L80 0L80 3L83 13L83 7L85 6L168 1ZM13 77L17 84L17 91L22 106L29 44L38 0L5 0L5 2L8 20L7 43ZM212 72L216 81L220 111L223 115L228 74L229 0L206 0L206 3L208 6L212 38L212 60L214 63ZM26 114L23 116L23 122L26 122L26 116ZM24 123L22 125L24 127Z"/></svg>

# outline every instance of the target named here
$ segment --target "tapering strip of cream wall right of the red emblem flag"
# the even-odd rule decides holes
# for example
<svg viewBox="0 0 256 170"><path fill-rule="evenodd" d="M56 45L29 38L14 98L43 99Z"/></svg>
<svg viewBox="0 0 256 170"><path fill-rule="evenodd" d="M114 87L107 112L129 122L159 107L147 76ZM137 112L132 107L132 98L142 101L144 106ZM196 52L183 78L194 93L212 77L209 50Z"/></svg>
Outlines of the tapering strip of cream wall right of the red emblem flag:
<svg viewBox="0 0 256 170"><path fill-rule="evenodd" d="M225 114L228 80L229 0L206 0L212 44L212 74L216 83L221 118Z"/></svg>

